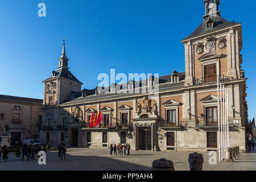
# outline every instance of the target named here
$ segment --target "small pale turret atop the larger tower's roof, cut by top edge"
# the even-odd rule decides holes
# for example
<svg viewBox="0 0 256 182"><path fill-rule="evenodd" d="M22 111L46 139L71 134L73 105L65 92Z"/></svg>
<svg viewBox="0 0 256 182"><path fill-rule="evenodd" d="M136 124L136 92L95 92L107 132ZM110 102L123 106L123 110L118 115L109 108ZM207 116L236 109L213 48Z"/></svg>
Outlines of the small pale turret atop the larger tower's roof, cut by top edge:
<svg viewBox="0 0 256 182"><path fill-rule="evenodd" d="M208 18L209 16L220 16L220 11L218 10L218 5L220 5L219 0L205 0L204 6L205 6L205 15L204 19Z"/></svg>

